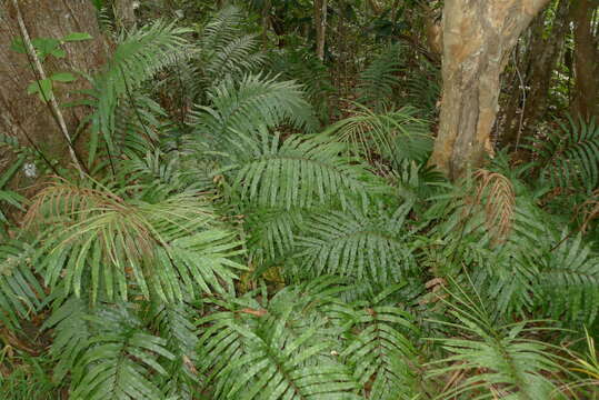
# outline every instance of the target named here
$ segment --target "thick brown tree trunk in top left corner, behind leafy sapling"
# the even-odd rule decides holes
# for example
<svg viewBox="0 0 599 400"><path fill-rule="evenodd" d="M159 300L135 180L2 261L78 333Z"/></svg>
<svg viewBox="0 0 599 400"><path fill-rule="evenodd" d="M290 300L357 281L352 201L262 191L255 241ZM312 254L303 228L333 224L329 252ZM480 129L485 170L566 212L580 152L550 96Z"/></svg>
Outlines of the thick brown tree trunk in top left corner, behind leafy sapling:
<svg viewBox="0 0 599 400"><path fill-rule="evenodd" d="M87 32L94 39L62 46L64 58L48 57L42 63L46 74L56 72L91 72L106 62L106 43L100 34L96 9L88 0L19 0L24 27L31 39L60 39L72 32ZM0 6L0 133L16 137L21 146L34 146L49 159L67 159L69 151L56 114L37 96L27 93L27 87L38 73L26 54L11 50L11 42L21 39L17 12L10 2ZM86 87L79 78L71 83L54 83L53 93L59 103L74 101L72 91ZM62 109L66 128L74 133L84 110Z"/></svg>

